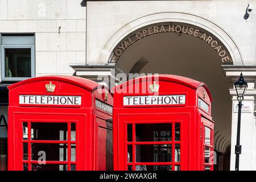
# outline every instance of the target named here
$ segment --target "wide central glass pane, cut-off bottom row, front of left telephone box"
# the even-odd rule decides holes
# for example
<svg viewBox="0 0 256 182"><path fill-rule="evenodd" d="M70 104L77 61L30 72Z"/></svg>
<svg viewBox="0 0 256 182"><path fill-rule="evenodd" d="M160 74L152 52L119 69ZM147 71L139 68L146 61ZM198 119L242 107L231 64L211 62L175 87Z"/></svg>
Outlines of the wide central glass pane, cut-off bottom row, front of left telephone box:
<svg viewBox="0 0 256 182"><path fill-rule="evenodd" d="M68 171L67 164L31 164L32 171Z"/></svg>

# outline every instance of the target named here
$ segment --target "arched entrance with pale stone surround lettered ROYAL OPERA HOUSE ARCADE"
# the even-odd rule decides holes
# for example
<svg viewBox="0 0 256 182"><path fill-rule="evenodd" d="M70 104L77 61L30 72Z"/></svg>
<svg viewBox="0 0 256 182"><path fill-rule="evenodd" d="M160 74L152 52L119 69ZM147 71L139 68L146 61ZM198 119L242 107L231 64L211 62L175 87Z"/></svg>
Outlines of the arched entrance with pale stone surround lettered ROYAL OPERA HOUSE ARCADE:
<svg viewBox="0 0 256 182"><path fill-rule="evenodd" d="M243 65L241 53L230 36L208 20L182 13L161 15L126 24L105 45L100 60L125 73L164 73L205 82L213 97L216 169L228 170L233 84L221 65Z"/></svg>

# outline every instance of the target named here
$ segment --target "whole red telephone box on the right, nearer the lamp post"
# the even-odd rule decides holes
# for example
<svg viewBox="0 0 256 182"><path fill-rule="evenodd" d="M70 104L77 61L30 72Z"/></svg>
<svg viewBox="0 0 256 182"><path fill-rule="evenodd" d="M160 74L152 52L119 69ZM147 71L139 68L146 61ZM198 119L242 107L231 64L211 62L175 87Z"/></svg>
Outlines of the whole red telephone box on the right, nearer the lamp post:
<svg viewBox="0 0 256 182"><path fill-rule="evenodd" d="M207 85L158 75L113 90L114 170L213 170Z"/></svg>

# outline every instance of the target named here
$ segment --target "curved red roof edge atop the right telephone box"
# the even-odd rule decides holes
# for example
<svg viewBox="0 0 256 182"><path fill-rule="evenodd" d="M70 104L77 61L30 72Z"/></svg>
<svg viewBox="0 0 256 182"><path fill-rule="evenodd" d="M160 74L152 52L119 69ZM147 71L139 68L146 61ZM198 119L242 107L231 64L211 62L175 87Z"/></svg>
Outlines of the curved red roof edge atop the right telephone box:
<svg viewBox="0 0 256 182"><path fill-rule="evenodd" d="M150 76L138 77L138 78L134 78L133 80L124 82L120 85L114 86L113 90L122 89L123 87L134 84L135 82L156 80L157 77L158 77L159 81L175 82L177 84L188 86L189 88L192 88L194 90L197 90L200 86L203 86L205 88L205 90L207 90L207 93L210 98L210 102L212 102L212 96L210 95L208 86L204 82L193 80L191 78L187 78L187 77L183 77L183 76L177 76L177 75L158 75L158 76L150 75Z"/></svg>

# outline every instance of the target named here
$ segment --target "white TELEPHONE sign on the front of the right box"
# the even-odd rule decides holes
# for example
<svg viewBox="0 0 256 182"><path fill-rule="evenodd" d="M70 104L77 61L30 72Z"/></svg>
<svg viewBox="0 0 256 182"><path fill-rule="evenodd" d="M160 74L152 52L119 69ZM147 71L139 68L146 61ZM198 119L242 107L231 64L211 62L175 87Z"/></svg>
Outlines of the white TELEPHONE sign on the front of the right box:
<svg viewBox="0 0 256 182"><path fill-rule="evenodd" d="M178 105L185 104L185 95L171 96L126 96L123 97L124 106L134 105Z"/></svg>

